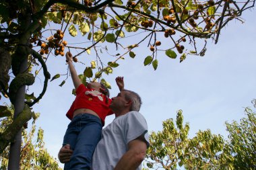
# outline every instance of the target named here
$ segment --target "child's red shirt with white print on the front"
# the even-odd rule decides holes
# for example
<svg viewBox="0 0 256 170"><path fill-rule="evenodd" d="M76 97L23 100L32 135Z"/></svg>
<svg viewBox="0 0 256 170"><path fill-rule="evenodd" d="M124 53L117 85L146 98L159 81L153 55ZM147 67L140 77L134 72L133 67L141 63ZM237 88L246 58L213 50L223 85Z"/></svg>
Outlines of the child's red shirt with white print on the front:
<svg viewBox="0 0 256 170"><path fill-rule="evenodd" d="M96 112L101 119L102 126L104 126L106 116L113 114L109 109L111 99L107 98L99 91L88 89L84 84L79 85L75 93L76 97L66 114L67 118L72 120L75 110L86 108ZM106 103L106 99L108 99L108 103Z"/></svg>

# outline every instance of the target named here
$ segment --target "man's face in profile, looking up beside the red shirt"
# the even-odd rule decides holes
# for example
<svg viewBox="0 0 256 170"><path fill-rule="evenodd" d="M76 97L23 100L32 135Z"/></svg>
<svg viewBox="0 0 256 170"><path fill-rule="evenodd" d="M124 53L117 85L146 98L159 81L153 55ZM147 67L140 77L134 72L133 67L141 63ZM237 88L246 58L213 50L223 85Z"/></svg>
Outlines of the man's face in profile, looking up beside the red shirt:
<svg viewBox="0 0 256 170"><path fill-rule="evenodd" d="M117 97L113 97L110 103L109 108L111 110L122 110L129 101L125 99L125 94L128 93L127 91L121 91Z"/></svg>

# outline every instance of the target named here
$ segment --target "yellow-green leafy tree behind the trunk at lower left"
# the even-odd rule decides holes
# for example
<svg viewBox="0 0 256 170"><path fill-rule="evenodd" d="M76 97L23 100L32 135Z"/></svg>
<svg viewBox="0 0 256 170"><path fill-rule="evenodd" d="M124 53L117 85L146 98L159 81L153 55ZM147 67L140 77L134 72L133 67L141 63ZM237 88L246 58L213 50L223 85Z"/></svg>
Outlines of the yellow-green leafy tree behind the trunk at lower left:
<svg viewBox="0 0 256 170"><path fill-rule="evenodd" d="M13 107L6 106L6 108L5 117L1 118L0 132L4 132L13 120ZM41 128L36 130L36 120L39 116L39 113L33 113L33 121L29 132L26 130L28 127L22 128L20 169L61 169L59 168L59 161L51 157L44 148L44 130ZM37 136L35 136L35 133L37 133ZM8 155L9 146L0 154L0 169L7 169Z"/></svg>

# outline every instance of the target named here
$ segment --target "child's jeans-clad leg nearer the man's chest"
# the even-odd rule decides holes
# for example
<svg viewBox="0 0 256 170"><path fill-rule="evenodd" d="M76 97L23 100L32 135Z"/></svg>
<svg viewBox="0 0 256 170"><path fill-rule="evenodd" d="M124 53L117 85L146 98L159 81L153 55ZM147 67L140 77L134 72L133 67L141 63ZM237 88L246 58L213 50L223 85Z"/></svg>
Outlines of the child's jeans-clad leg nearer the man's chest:
<svg viewBox="0 0 256 170"><path fill-rule="evenodd" d="M75 149L70 160L70 170L89 170L92 155L101 138L102 124L100 118L91 114L82 114L81 131L77 136Z"/></svg>

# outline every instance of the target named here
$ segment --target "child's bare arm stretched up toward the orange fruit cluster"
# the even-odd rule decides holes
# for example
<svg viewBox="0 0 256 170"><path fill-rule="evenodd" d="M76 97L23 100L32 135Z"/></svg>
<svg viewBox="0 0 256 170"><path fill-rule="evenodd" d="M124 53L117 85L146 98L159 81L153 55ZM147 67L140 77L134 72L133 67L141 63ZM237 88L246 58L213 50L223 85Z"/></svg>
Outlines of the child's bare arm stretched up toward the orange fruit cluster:
<svg viewBox="0 0 256 170"><path fill-rule="evenodd" d="M75 67L73 66L73 63L72 63L73 56L72 56L71 52L66 53L66 58L67 58L67 63L69 65L69 71L71 73L73 85L75 86L75 89L77 89L77 87L79 87L79 85L81 85L82 82L80 81L80 79L75 71Z"/></svg>

